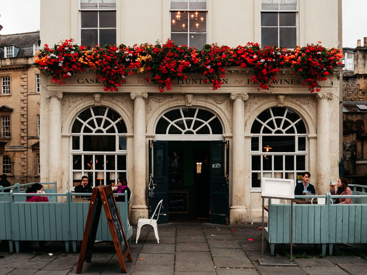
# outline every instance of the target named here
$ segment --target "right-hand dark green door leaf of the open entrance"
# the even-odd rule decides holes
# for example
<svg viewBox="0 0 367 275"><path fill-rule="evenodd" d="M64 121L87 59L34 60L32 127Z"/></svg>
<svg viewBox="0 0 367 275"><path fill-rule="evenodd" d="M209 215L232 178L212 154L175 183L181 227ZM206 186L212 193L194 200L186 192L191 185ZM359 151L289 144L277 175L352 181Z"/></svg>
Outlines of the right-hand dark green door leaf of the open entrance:
<svg viewBox="0 0 367 275"><path fill-rule="evenodd" d="M210 146L210 222L229 223L228 142L212 141Z"/></svg>

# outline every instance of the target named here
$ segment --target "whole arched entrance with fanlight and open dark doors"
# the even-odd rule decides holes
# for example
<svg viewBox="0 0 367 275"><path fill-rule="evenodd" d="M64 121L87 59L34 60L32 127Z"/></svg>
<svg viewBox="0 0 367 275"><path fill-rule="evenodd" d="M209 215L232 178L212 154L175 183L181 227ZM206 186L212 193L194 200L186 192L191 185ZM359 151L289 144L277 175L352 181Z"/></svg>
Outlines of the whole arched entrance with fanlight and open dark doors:
<svg viewBox="0 0 367 275"><path fill-rule="evenodd" d="M164 199L168 219L228 221L228 143L217 114L201 107L176 107L161 114L150 143L149 173L155 198ZM161 219L161 217L160 217Z"/></svg>

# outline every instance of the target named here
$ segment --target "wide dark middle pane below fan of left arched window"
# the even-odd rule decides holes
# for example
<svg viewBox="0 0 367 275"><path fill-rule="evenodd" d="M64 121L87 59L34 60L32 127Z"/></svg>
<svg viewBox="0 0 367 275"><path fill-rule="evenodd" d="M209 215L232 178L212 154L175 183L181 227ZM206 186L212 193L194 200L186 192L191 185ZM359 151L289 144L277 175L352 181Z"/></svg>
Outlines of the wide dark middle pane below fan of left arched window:
<svg viewBox="0 0 367 275"><path fill-rule="evenodd" d="M84 135L83 151L116 151L116 136Z"/></svg>

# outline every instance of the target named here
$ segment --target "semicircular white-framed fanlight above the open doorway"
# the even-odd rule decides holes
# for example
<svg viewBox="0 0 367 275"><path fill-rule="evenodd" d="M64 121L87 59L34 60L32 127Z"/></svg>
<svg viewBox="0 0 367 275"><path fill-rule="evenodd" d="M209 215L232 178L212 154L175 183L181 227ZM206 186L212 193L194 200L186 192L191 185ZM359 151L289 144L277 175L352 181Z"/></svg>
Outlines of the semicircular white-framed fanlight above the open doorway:
<svg viewBox="0 0 367 275"><path fill-rule="evenodd" d="M216 114L200 108L178 108L166 112L155 127L156 135L170 135L185 140L223 139L223 129Z"/></svg>

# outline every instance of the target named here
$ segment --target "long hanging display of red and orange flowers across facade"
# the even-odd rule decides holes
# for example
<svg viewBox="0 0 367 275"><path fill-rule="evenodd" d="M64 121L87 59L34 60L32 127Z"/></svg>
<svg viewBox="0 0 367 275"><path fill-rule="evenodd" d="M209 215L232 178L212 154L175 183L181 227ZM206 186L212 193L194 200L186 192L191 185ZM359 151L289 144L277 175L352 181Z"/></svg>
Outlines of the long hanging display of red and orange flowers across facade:
<svg viewBox="0 0 367 275"><path fill-rule="evenodd" d="M217 44L204 45L198 50L177 46L172 40L165 44L142 44L132 47L121 44L84 47L65 40L50 48L47 44L35 56L35 63L52 76L51 81L64 84L64 79L82 72L85 67L96 70L96 77L105 91L118 91L133 73L149 73L146 77L158 85L159 90L170 90L172 80L186 79L188 73L200 73L204 83L211 83L213 90L221 87L226 68L253 67L251 81L261 89L269 89L281 68L289 67L293 74L303 78L312 93L320 91L319 81L324 81L341 65L342 50L326 49L318 44L307 44L293 50L260 47L257 43L230 48Z"/></svg>

